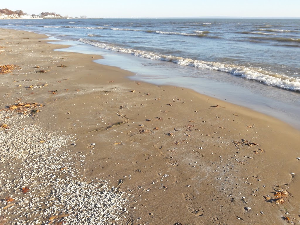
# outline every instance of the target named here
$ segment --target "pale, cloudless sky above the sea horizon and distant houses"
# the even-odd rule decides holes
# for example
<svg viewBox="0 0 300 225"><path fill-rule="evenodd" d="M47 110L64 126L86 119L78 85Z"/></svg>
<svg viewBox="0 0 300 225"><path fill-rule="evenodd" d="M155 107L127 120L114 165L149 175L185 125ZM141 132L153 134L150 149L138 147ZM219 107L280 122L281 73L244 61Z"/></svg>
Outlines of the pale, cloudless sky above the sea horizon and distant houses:
<svg viewBox="0 0 300 225"><path fill-rule="evenodd" d="M88 18L300 17L300 0L8 0L0 7Z"/></svg>

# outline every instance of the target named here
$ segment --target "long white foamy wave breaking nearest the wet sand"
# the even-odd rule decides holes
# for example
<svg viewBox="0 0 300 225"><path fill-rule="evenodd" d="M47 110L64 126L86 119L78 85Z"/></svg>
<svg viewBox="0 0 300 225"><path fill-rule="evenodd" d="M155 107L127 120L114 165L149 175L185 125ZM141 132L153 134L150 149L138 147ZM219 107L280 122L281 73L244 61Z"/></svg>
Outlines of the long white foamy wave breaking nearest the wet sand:
<svg viewBox="0 0 300 225"><path fill-rule="evenodd" d="M182 58L173 55L158 55L154 52L141 51L135 49L120 48L109 44L89 41L83 38L79 39L80 42L90 44L103 49L108 49L115 52L129 53L142 58L149 58L153 60L170 61L179 65L192 66L208 70L217 70L225 73L230 73L235 76L241 76L246 79L257 80L268 86L276 86L283 89L292 91L300 91L300 79L289 78L288 76L270 73L264 70L255 70L254 68L247 68L244 66L223 64L219 62L208 62L202 60L193 60L191 58Z"/></svg>

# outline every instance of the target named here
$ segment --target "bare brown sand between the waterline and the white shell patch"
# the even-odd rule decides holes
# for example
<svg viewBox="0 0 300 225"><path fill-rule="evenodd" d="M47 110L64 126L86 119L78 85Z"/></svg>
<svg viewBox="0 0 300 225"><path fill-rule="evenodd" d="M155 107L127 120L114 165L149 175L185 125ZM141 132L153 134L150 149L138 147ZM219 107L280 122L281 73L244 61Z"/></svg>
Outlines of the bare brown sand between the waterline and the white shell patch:
<svg viewBox="0 0 300 225"><path fill-rule="evenodd" d="M73 159L83 182L97 177L134 196L124 224L284 224L283 206L298 222L296 129L190 89L132 81L128 71L93 62L98 55L53 51L62 46L44 35L0 32L3 64L20 67L1 75L2 105L43 104L26 121L74 137L66 149L85 155ZM274 188L292 196L266 201Z"/></svg>

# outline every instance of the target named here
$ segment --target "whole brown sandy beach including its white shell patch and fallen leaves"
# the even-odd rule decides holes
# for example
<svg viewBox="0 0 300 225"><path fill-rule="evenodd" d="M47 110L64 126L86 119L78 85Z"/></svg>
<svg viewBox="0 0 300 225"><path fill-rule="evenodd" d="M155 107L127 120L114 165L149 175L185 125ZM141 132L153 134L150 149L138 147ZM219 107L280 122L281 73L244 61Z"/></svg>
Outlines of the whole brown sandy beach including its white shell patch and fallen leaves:
<svg viewBox="0 0 300 225"><path fill-rule="evenodd" d="M0 34L0 225L300 223L299 130Z"/></svg>

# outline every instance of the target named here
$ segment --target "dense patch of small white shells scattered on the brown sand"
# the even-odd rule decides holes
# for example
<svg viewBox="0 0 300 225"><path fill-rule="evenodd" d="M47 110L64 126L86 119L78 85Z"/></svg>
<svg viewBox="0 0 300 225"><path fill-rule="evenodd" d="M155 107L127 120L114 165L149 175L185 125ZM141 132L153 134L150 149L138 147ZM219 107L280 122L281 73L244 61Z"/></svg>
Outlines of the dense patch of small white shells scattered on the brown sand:
<svg viewBox="0 0 300 225"><path fill-rule="evenodd" d="M101 179L82 181L77 168L84 166L85 156L67 150L71 137L28 125L29 119L0 111L0 122L8 125L0 130L0 216L24 225L126 221L130 195ZM5 200L9 197L13 200Z"/></svg>

